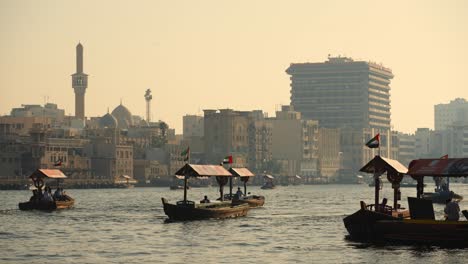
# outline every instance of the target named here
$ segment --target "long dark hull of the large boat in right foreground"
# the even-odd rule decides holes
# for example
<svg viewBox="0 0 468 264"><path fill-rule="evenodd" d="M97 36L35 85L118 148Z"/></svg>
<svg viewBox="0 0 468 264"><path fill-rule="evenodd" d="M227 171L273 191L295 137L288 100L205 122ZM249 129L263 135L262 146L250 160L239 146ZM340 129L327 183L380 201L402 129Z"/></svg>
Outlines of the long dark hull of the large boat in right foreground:
<svg viewBox="0 0 468 264"><path fill-rule="evenodd" d="M399 219L359 210L343 222L353 240L468 247L468 221Z"/></svg>

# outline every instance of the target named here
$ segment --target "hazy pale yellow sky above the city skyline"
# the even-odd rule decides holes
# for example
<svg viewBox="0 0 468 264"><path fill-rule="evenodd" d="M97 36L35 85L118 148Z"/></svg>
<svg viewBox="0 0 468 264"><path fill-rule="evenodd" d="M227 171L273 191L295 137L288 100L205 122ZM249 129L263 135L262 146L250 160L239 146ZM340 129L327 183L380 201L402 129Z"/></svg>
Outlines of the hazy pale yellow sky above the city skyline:
<svg viewBox="0 0 468 264"><path fill-rule="evenodd" d="M181 133L203 109L290 103L290 63L328 54L393 70L392 124L433 128L434 105L468 99L468 1L0 0L0 114L57 103L74 114L75 46L89 74L86 116L120 99Z"/></svg>

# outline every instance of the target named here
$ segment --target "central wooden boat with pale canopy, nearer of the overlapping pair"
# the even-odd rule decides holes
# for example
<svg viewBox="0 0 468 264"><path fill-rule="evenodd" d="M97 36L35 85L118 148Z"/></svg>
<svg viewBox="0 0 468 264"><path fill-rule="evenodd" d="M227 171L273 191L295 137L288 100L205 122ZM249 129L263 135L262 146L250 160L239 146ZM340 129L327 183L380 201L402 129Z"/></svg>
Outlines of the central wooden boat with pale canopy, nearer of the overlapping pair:
<svg viewBox="0 0 468 264"><path fill-rule="evenodd" d="M248 204L233 204L231 201L195 203L187 200L187 181L191 177L216 177L220 186L220 197L223 195L223 186L232 174L220 165L195 165L185 164L176 172L176 175L184 175L184 199L171 204L167 199L161 198L164 213L170 220L201 220L209 218L233 218L247 215L250 207Z"/></svg>

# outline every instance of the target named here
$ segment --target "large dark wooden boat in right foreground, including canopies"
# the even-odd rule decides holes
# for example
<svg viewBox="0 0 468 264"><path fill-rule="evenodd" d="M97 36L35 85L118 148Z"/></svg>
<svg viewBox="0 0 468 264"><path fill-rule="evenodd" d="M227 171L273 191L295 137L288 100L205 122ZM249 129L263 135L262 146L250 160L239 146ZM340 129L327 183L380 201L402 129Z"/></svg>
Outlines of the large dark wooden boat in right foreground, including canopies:
<svg viewBox="0 0 468 264"><path fill-rule="evenodd" d="M425 176L467 176L468 159L413 160L408 170L398 161L376 156L361 171L373 172L376 186L380 185L379 176L386 172L394 187L395 202L393 207L379 204L380 188L376 188L375 204L366 206L361 201L361 209L343 219L351 239L468 247L468 221L436 220L432 201L422 199ZM399 183L404 175L417 181L417 197L408 197L409 211L397 204L401 196Z"/></svg>

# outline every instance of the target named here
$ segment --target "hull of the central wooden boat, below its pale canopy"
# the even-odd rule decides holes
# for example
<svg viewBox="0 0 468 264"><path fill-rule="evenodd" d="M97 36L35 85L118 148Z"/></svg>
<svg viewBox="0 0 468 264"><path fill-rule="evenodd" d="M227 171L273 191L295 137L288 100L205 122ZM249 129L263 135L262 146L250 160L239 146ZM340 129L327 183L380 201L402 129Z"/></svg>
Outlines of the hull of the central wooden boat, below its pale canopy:
<svg viewBox="0 0 468 264"><path fill-rule="evenodd" d="M205 207L196 207L195 204L170 204L165 198L162 198L164 213L170 220L202 220L210 218L234 218L247 215L250 207L247 204L215 206L207 205Z"/></svg>

